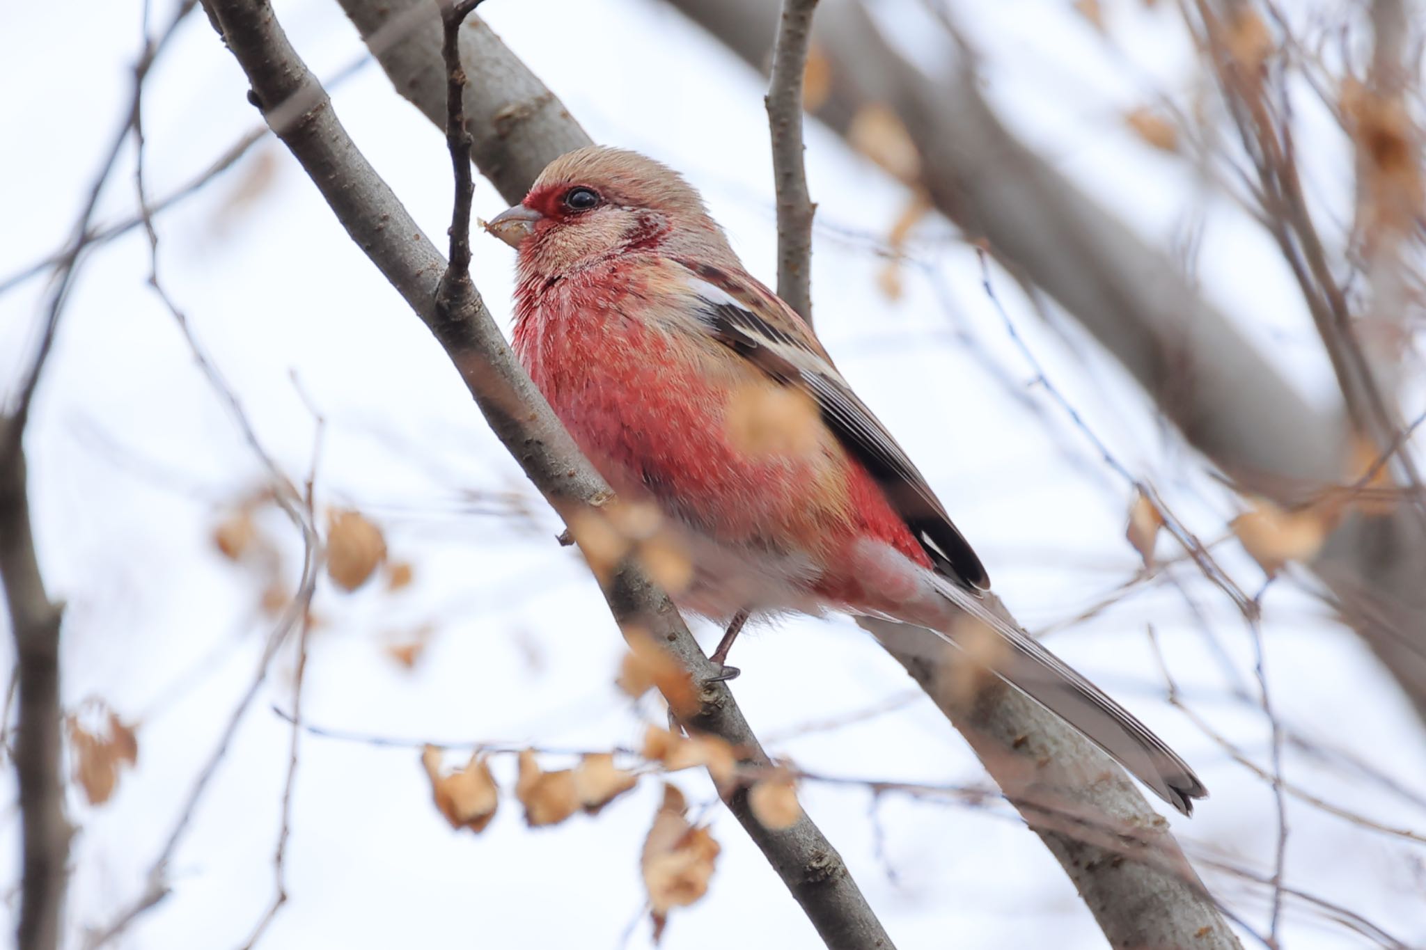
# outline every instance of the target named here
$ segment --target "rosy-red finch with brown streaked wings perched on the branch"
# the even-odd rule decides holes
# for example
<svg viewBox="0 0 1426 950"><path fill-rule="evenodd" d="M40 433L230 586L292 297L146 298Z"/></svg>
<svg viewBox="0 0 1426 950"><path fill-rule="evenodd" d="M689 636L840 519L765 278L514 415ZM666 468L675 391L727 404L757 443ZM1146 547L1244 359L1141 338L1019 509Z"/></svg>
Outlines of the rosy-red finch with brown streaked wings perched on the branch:
<svg viewBox="0 0 1426 950"><path fill-rule="evenodd" d="M750 617L840 611L924 631L1181 813L1206 798L1178 753L1000 605L925 477L682 175L590 145L485 226L516 249L520 365L617 496L665 518L692 565L670 595L727 624L714 662Z"/></svg>

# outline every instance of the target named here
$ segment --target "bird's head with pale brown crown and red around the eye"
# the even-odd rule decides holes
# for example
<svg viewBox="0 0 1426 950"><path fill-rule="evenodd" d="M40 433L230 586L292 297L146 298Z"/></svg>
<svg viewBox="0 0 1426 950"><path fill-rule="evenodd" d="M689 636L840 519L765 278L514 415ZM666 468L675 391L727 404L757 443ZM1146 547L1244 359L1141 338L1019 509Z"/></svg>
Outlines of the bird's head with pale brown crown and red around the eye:
<svg viewBox="0 0 1426 950"><path fill-rule="evenodd" d="M637 152L592 145L552 161L525 201L486 231L546 278L622 254L733 259L703 198L672 168Z"/></svg>

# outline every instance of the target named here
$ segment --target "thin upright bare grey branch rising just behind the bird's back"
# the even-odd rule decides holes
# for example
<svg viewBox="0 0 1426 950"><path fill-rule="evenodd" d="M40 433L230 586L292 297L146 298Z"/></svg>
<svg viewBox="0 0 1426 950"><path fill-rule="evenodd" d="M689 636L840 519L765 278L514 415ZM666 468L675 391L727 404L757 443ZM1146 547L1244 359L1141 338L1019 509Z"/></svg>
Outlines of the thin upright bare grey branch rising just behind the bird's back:
<svg viewBox="0 0 1426 950"><path fill-rule="evenodd" d="M767 124L773 135L773 182L777 188L777 296L811 323L811 216L803 165L803 77L817 0L783 0L767 88Z"/></svg>

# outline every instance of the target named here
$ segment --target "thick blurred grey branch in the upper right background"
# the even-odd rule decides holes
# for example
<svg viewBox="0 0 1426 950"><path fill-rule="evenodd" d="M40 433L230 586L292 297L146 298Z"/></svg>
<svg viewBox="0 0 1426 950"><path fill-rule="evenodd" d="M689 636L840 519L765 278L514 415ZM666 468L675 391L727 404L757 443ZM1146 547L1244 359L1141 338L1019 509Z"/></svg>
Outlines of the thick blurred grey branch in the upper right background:
<svg viewBox="0 0 1426 950"><path fill-rule="evenodd" d="M669 3L766 68L777 16L767 0ZM847 135L860 108L888 105L917 145L937 209L1048 292L1236 484L1292 506L1303 484L1342 476L1342 413L1313 409L1165 254L1025 148L981 97L964 57L945 78L928 78L860 0L824 0L813 41L831 75L817 117ZM1310 568L1426 719L1426 531L1417 518L1350 517Z"/></svg>

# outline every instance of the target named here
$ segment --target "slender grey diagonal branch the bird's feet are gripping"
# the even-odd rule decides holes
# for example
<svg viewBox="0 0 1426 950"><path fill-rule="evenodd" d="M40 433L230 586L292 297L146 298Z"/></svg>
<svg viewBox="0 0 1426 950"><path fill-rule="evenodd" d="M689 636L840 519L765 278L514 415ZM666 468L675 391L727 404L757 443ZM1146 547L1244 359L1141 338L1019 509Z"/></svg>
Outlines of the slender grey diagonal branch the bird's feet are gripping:
<svg viewBox="0 0 1426 950"><path fill-rule="evenodd" d="M565 517L589 506L606 504L612 499L607 486L520 369L473 286L468 298L456 301L458 306L442 316L438 293L446 261L351 141L317 78L288 43L271 7L262 0L205 0L205 7L247 73L264 115L271 117L284 103L302 104L291 121L274 122L274 131L322 192L352 241L435 335L492 430L526 476ZM386 9L395 13L396 7L399 4ZM438 10L435 4L426 4L425 10L415 20L419 26L412 36L419 34L434 43L434 57L428 61L439 64L442 30ZM463 33L479 34L479 30ZM471 60L465 61L468 68L475 67ZM446 78L439 66L436 80L443 124ZM473 121L476 144L481 140L478 128L479 122ZM699 649L667 595L649 581L637 563L626 560L619 565L605 585L605 597L625 630L637 627L649 631L683 664L694 682L703 684L702 708L689 716L686 725L723 738L739 749L742 761L750 766L770 766L726 685L707 681L717 671ZM810 818L803 816L786 830L770 830L753 816L746 789L732 790L724 800L829 947L891 947L840 855Z"/></svg>

